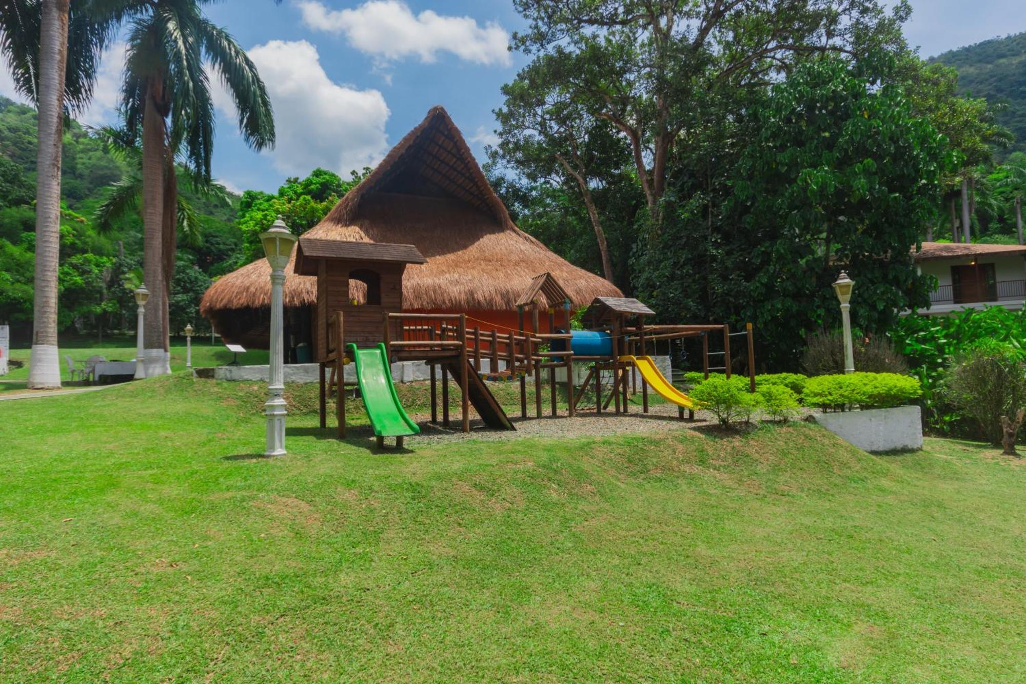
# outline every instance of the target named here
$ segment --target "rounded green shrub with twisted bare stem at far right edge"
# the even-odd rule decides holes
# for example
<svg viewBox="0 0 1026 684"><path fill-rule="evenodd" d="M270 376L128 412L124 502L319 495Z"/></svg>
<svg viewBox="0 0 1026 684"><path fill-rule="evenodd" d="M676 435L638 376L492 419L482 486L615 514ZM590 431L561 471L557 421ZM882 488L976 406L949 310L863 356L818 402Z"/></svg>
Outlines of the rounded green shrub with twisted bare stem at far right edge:
<svg viewBox="0 0 1026 684"><path fill-rule="evenodd" d="M1022 351L1000 342L979 343L946 378L946 395L980 426L991 444L1001 444L1001 416L1015 418L1026 407L1026 360Z"/></svg>

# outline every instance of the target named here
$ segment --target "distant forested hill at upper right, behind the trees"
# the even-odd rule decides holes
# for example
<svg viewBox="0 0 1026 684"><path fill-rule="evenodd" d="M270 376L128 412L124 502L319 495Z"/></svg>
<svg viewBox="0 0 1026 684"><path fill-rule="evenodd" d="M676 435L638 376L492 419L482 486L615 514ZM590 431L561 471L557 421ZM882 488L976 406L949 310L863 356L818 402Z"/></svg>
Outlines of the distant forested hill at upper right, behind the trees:
<svg viewBox="0 0 1026 684"><path fill-rule="evenodd" d="M1016 136L1013 150L1026 151L1026 33L992 38L931 60L958 70L958 89L1007 109L998 116Z"/></svg>

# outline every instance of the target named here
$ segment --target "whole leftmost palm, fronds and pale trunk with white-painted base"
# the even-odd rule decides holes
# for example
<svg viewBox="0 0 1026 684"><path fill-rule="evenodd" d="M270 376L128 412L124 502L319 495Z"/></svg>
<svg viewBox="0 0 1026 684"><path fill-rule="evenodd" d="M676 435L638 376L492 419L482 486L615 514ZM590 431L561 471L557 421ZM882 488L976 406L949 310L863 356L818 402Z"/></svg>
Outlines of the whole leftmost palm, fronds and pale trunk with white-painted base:
<svg viewBox="0 0 1026 684"><path fill-rule="evenodd" d="M110 0L102 0L110 4ZM14 86L38 110L36 270L29 387L61 386L57 264L61 144L66 109L89 102L100 56L117 22L91 0L0 0L0 52Z"/></svg>

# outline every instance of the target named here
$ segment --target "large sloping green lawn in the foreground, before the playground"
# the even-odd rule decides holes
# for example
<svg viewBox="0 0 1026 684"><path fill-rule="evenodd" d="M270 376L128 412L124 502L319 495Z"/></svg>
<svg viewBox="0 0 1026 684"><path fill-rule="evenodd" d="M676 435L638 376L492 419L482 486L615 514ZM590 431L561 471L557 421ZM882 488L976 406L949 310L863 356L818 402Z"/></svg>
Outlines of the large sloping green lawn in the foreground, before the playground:
<svg viewBox="0 0 1026 684"><path fill-rule="evenodd" d="M1026 469L990 448L376 453L289 397L275 460L260 385L0 403L0 681L1026 677Z"/></svg>

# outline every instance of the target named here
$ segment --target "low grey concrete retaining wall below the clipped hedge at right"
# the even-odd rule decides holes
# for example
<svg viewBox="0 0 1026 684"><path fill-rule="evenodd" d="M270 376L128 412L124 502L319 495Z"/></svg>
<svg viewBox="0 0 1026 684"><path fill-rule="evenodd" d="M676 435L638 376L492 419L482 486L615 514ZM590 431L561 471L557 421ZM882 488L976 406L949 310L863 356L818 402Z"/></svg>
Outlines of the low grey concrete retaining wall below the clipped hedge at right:
<svg viewBox="0 0 1026 684"><path fill-rule="evenodd" d="M813 418L863 451L922 449L922 415L917 406L821 413Z"/></svg>

